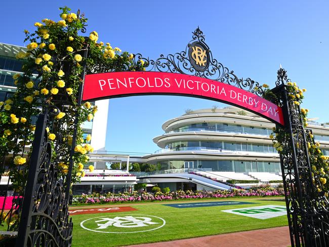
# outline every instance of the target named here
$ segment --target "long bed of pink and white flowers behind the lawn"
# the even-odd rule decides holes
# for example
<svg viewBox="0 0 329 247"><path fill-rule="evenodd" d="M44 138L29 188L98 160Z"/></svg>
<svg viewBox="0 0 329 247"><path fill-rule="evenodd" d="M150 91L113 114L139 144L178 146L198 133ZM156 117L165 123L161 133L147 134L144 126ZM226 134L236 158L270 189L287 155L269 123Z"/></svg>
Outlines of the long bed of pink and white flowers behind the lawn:
<svg viewBox="0 0 329 247"><path fill-rule="evenodd" d="M227 198L242 196L282 196L284 191L282 187L260 186L250 189L232 189L215 191L172 191L168 193L108 193L100 195L93 193L91 195L82 194L73 197L72 204L103 204L103 203L125 203L142 201L162 201L162 200L181 200L181 199L204 199L204 198Z"/></svg>

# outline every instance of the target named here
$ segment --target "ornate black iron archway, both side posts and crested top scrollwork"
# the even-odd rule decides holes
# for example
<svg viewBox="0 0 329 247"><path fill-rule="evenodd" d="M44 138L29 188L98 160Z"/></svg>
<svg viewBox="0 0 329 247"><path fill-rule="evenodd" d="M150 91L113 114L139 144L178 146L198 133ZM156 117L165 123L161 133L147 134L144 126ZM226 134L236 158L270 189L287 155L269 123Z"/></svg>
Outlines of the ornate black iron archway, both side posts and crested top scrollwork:
<svg viewBox="0 0 329 247"><path fill-rule="evenodd" d="M88 57L88 47L84 56ZM266 97L260 83L251 78L237 77L233 71L213 58L199 28L193 32L192 40L184 51L168 56L160 55L156 60L136 54L135 63L140 63L141 60L145 61L147 71L193 75ZM84 66L82 80L85 74L112 72L103 64ZM286 71L279 69L276 87L271 90L275 98L270 100L283 110L284 126L277 124L277 128L282 128L285 133L280 160L291 242L292 246L329 246L329 203L323 194L315 191L308 153L310 137L306 135L309 130L304 129L299 105L294 104L288 96L286 83L289 81ZM78 104L81 103L82 92L83 86L79 89ZM65 100L58 102L57 107L67 107ZM57 178L56 169L51 163L52 150L47 140L46 128L53 124L55 114L54 109L49 109L37 121L16 246L71 244L72 223L68 219L67 205L73 161L70 158L67 179L63 184ZM71 127L67 127L64 123L59 123L56 128L75 128L77 124L75 121ZM71 152L65 155L72 157L75 139L76 133L73 135ZM60 143L55 149L60 151ZM37 207L35 200L40 202Z"/></svg>

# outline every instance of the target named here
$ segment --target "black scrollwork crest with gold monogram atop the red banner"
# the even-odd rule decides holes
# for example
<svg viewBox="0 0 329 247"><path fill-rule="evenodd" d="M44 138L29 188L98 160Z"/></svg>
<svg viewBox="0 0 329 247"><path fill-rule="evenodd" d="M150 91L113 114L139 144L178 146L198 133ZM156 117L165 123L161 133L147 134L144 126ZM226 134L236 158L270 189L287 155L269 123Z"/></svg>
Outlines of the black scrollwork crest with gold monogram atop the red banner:
<svg viewBox="0 0 329 247"><path fill-rule="evenodd" d="M142 54L136 54L134 62L145 62L146 71L160 71L195 75L203 78L220 81L237 88L249 91L258 96L263 96L262 86L251 78L238 78L234 71L230 71L223 64L213 58L212 52L204 42L203 32L197 28L192 32L192 40L187 44L185 51L169 54L167 57L161 54L156 60L145 58Z"/></svg>

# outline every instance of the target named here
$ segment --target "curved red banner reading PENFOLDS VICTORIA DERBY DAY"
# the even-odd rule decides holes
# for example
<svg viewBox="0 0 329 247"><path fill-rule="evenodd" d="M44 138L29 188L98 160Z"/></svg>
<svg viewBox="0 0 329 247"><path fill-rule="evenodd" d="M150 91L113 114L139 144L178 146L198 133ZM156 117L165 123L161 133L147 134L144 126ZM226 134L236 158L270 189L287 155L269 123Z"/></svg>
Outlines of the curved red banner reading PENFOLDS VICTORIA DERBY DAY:
<svg viewBox="0 0 329 247"><path fill-rule="evenodd" d="M166 72L110 72L85 77L83 100L132 95L183 95L221 101L284 124L282 109L253 93L216 80Z"/></svg>

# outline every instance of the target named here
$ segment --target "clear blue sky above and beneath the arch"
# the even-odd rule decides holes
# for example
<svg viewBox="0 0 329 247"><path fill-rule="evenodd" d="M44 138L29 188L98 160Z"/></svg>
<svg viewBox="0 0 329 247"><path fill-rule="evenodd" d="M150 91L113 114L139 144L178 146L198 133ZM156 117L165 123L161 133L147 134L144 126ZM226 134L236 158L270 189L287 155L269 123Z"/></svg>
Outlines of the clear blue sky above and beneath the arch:
<svg viewBox="0 0 329 247"><path fill-rule="evenodd" d="M328 122L328 1L5 1L0 42L24 46L24 29L43 18L59 20L58 7L80 9L89 18L87 32L123 51L156 59L180 52L199 26L213 56L239 77L274 87L279 64L306 88L302 107L309 117ZM153 152L161 125L185 109L221 104L178 96L111 99L106 148Z"/></svg>

